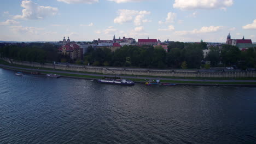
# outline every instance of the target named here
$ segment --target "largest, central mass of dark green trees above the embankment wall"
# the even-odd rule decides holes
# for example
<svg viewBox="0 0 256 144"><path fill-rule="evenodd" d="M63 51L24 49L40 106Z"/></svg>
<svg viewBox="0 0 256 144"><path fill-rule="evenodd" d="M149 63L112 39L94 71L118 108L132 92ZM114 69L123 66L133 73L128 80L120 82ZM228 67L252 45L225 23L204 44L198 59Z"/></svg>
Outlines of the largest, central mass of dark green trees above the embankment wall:
<svg viewBox="0 0 256 144"><path fill-rule="evenodd" d="M111 65L114 67L181 68L186 62L188 68L200 68L203 59L200 44L178 43L178 48L169 47L169 52L161 46L123 46L115 52L109 49L89 48L84 57L85 64ZM186 47L186 48L185 48Z"/></svg>

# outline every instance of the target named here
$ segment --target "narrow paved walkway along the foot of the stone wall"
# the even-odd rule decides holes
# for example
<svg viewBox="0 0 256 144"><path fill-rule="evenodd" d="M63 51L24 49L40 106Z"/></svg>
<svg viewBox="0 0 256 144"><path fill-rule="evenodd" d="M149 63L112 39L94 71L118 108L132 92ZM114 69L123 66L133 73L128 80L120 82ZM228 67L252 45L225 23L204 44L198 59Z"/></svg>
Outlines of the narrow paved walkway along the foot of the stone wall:
<svg viewBox="0 0 256 144"><path fill-rule="evenodd" d="M69 71L59 71L59 70L44 70L44 69L31 69L31 68L21 68L21 67L14 67L14 66L9 66L9 65L3 65L0 64L0 67L5 67L5 68L18 68L18 69L23 69L23 70L31 70L31 71L45 71L45 72L50 72L50 73L63 73L63 74L75 74L75 75L89 75L89 76L110 76L113 77L113 75L100 75L100 74L86 74L86 73L79 73L79 72L69 72ZM155 80L157 76L155 77L145 77L145 76L119 76L121 78L126 78L126 79L152 79ZM256 82L256 80L196 80L196 79L169 79L169 78L162 78L159 77L160 80L170 80L170 81L198 81L198 82Z"/></svg>

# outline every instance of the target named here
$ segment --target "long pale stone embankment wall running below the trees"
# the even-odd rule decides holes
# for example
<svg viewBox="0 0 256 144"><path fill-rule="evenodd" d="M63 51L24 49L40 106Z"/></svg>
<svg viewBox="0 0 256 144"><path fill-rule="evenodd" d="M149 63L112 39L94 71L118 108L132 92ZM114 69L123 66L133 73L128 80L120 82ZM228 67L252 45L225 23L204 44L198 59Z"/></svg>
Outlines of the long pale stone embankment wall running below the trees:
<svg viewBox="0 0 256 144"><path fill-rule="evenodd" d="M30 62L18 62L4 58L4 61L12 64L30 67L50 68L59 70L83 71L90 73L102 73L104 75L143 75L143 76L172 76L172 77L256 77L255 69L252 70L182 70L182 69L143 69L143 68L115 68L95 67L73 64L40 64Z"/></svg>

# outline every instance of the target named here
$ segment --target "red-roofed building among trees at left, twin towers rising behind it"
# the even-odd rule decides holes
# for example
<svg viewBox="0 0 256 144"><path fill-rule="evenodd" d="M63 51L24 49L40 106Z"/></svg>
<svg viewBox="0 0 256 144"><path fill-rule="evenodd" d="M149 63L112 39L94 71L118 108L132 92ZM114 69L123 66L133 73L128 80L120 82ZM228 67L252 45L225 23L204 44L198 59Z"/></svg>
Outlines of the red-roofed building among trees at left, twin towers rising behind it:
<svg viewBox="0 0 256 144"><path fill-rule="evenodd" d="M59 49L58 53L62 55L68 55L71 59L83 58L83 49L78 44L70 43L70 39L63 39L63 44Z"/></svg>

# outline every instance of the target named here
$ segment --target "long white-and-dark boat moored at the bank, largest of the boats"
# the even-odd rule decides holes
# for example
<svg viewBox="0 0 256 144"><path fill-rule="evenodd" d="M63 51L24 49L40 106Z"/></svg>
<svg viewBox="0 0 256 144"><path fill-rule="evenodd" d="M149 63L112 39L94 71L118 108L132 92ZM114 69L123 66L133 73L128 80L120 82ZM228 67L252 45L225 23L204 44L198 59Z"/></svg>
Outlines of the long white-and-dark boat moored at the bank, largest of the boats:
<svg viewBox="0 0 256 144"><path fill-rule="evenodd" d="M133 86L135 84L133 81L126 80L126 79L100 79L98 80L98 82L116 84L116 85L128 85L128 86Z"/></svg>

